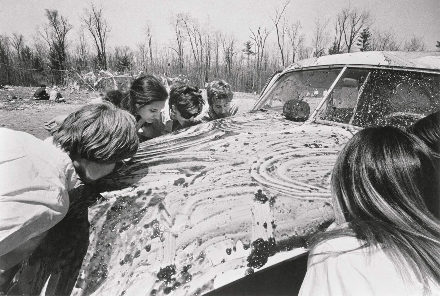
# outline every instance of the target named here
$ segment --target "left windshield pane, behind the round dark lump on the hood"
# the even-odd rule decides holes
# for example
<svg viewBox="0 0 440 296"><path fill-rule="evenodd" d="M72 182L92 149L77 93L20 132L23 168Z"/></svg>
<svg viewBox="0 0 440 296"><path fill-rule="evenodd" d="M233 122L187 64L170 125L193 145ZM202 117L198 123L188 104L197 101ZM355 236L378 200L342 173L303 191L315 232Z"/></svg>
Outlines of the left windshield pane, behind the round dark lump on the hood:
<svg viewBox="0 0 440 296"><path fill-rule="evenodd" d="M326 95L342 68L319 69L285 73L258 100L253 109L268 109L282 113L284 103L290 99L308 102L313 111Z"/></svg>

